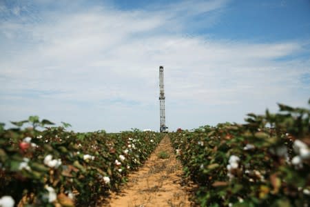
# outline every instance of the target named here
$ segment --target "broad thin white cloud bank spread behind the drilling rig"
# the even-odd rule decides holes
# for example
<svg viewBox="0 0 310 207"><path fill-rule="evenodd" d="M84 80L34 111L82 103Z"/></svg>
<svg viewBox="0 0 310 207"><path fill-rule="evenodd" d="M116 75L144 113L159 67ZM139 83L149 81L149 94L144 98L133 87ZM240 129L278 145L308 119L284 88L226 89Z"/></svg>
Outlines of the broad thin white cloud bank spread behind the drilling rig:
<svg viewBox="0 0 310 207"><path fill-rule="evenodd" d="M309 75L310 62L285 60L303 50L301 41L186 38L180 13L214 12L225 3L185 1L150 12L103 6L1 23L9 44L0 41L8 51L0 57L0 121L36 114L76 130L156 130L160 65L172 129L242 121L277 101L304 106L309 85L300 77ZM167 32L172 28L179 34Z"/></svg>

